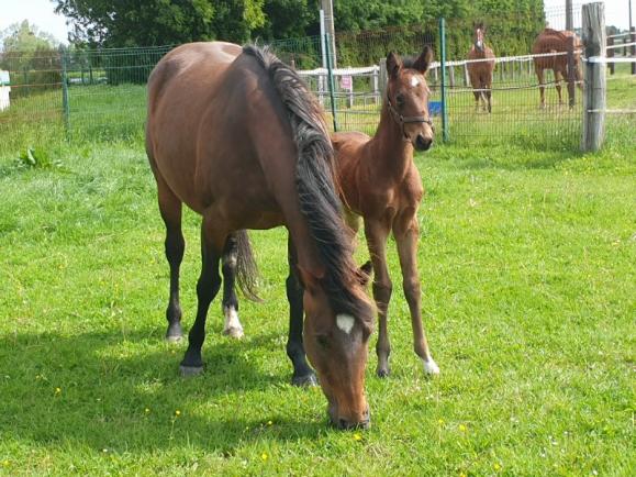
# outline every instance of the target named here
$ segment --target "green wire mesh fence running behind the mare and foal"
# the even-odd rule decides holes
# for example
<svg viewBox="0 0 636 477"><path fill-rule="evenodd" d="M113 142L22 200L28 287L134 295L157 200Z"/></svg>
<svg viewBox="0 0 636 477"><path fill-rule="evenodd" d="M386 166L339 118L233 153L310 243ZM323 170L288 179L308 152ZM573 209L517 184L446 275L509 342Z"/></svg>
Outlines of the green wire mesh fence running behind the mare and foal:
<svg viewBox="0 0 636 477"><path fill-rule="evenodd" d="M489 14L445 22L444 31L439 22L431 22L337 33L335 38L275 41L270 47L304 78L333 129L372 134L384 100L387 54L415 56L429 45L435 52L427 75L429 111L437 131L444 130L449 141L532 142L577 148L582 119L580 88L584 88L578 74L583 45L573 35L568 41L560 31L571 24L572 33L580 33L581 7L574 4L569 22L565 9L520 14L526 14L527 21ZM547 32L546 23L555 29L556 36L547 35L548 41L538 48L537 38ZM607 52L625 59L636 56L631 35L622 34L621 38L621 45L627 45ZM335 57L323 55L331 51L325 43L332 41ZM478 42L492 55L480 56ZM0 151L58 137L143 137L145 85L153 67L170 49L156 46L0 55ZM623 91L633 82L621 78L631 67L617 67L616 88L610 88L611 95L627 96L622 102L627 106L632 104L634 88L631 93Z"/></svg>

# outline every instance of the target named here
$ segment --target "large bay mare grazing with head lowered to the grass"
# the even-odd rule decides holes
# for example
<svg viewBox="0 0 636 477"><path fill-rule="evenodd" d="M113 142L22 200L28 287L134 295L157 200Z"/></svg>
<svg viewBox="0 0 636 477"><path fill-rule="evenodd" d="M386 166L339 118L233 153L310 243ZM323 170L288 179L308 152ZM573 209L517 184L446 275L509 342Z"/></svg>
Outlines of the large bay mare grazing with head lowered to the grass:
<svg viewBox="0 0 636 477"><path fill-rule="evenodd" d="M167 230L168 336L180 334L181 204L202 215L197 318L182 373L203 369L201 347L208 309L221 287L220 260L232 287L234 271L242 271L237 260L249 254L244 230L284 225L293 381L315 379L306 350L332 422L367 425L364 374L373 307L352 258L322 112L298 75L254 46L180 46L149 78L146 151Z"/></svg>

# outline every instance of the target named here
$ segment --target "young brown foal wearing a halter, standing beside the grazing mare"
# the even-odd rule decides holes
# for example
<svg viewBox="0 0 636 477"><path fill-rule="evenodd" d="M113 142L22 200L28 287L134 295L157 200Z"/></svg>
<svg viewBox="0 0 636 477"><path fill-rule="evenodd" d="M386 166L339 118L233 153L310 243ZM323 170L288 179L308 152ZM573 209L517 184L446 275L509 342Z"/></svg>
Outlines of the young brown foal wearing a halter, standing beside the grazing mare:
<svg viewBox="0 0 636 477"><path fill-rule="evenodd" d="M357 230L357 218L364 219L373 265L373 298L380 319L376 347L380 377L389 374L391 351L387 329L392 290L387 267L387 240L391 232L398 245L415 353L423 359L426 373L439 373L428 351L420 309L417 208L424 189L413 163L413 147L426 151L433 143L429 90L425 79L432 57L428 47L414 62L402 63L397 55L389 54L387 95L376 135L369 137L358 132L332 135L342 195L349 211L348 222Z"/></svg>

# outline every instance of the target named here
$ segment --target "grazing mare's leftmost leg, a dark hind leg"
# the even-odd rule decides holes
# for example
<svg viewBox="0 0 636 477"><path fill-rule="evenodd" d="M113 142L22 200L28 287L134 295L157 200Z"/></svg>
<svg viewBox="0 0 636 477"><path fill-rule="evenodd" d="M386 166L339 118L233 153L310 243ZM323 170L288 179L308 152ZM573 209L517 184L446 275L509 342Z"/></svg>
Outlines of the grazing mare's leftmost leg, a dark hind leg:
<svg viewBox="0 0 636 477"><path fill-rule="evenodd" d="M181 201L160 177L157 178L157 188L159 211L166 224L166 258L170 265L170 297L166 309L166 319L168 320L166 340L178 341L183 335L181 331L181 306L179 303L179 267L186 247L181 233Z"/></svg>

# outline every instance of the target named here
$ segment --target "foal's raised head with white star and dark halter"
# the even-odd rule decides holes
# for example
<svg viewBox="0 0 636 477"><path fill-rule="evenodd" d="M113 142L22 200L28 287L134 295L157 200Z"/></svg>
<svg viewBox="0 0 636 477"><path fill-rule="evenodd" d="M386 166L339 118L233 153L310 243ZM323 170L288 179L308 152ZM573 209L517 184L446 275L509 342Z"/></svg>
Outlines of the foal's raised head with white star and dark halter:
<svg viewBox="0 0 636 477"><path fill-rule="evenodd" d="M433 144L433 122L428 114L426 71L433 62L433 51L425 46L413 62L389 53L387 56L387 104L389 112L400 125L405 141L417 151L426 151Z"/></svg>

